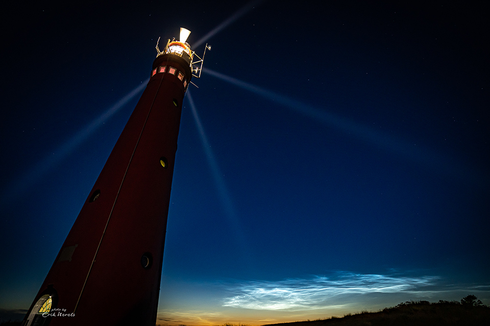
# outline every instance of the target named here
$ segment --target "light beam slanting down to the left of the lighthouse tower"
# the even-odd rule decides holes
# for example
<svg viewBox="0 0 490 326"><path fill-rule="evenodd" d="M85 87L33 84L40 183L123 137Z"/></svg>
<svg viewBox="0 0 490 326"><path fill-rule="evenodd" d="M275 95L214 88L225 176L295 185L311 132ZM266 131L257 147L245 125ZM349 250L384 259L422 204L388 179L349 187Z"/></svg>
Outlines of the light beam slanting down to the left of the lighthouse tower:
<svg viewBox="0 0 490 326"><path fill-rule="evenodd" d="M12 199L19 196L25 191L28 186L32 186L35 182L39 181L48 171L55 167L61 160L75 151L86 139L92 135L95 130L107 120L109 120L114 114L116 114L121 107L131 101L136 95L138 95L148 84L150 79L144 80L138 87L131 92L123 96L114 105L109 107L99 117L96 117L88 125L74 134L70 139L65 141L60 147L52 151L52 155L47 155L40 162L31 168L26 174L20 177L13 185L8 187L8 192L3 196L1 204L10 202Z"/></svg>

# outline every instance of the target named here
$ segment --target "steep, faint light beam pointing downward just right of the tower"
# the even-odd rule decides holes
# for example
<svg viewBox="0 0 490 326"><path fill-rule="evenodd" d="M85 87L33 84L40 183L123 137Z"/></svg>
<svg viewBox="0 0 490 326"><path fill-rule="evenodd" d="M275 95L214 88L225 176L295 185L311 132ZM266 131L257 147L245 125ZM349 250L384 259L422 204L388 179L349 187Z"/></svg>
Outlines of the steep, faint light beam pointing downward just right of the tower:
<svg viewBox="0 0 490 326"><path fill-rule="evenodd" d="M238 215L236 213L235 208L233 207L232 198L230 197L230 192L226 186L225 180L223 180L222 177L223 173L220 171L216 160L216 156L211 150L211 145L209 143L208 138L206 137L203 124L201 122L201 119L199 118L198 111L195 108L194 100L192 99L189 90L187 90L186 97L189 99L190 110L192 111L192 116L194 117L195 125L198 128L201 142L203 144L203 148L206 153L206 158L208 160L209 167L211 168L211 173L213 175L214 181L216 182L216 187L218 188L219 198L221 199L222 204L225 208L225 213L228 216L228 219L230 220L232 232L234 233L237 242L239 242L238 245L242 252L241 257L248 260L247 262L250 262L251 258L247 251L248 247L247 247L246 238L244 237L243 232L240 231L243 228L241 228L240 226ZM245 265L251 266L251 264L249 263Z"/></svg>

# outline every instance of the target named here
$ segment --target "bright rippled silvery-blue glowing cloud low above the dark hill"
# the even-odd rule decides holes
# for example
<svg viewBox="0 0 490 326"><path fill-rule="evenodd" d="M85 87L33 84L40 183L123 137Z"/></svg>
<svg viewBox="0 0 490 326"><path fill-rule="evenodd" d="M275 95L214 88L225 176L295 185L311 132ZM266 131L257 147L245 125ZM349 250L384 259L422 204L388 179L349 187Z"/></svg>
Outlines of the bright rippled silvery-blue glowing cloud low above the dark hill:
<svg viewBox="0 0 490 326"><path fill-rule="evenodd" d="M342 308L353 296L370 293L420 292L438 280L433 276L406 277L341 273L334 278L288 279L278 282L253 281L233 289L226 307L256 310L313 310Z"/></svg>

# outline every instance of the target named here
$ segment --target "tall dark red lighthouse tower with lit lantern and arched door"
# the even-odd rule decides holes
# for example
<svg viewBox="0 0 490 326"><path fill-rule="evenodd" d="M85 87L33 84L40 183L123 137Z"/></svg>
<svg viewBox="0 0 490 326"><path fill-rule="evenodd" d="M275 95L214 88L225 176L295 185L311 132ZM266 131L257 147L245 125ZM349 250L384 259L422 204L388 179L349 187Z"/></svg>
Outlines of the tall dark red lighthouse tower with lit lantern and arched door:
<svg viewBox="0 0 490 326"><path fill-rule="evenodd" d="M157 43L150 81L23 325L155 325L182 102L200 71L189 34Z"/></svg>

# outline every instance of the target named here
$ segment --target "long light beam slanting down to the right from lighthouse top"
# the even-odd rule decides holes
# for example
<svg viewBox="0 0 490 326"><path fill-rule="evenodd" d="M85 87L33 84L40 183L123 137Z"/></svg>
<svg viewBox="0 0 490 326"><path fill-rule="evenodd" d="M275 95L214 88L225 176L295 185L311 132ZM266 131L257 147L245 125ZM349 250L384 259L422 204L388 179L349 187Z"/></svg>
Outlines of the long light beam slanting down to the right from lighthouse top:
<svg viewBox="0 0 490 326"><path fill-rule="evenodd" d="M396 153L404 158L408 158L416 164L429 167L437 173L452 177L457 176L461 181L466 181L469 183L480 183L478 176L476 176L475 173L467 167L463 166L462 164L458 164L458 162L449 157L438 155L437 153L423 148L422 146L415 146L413 143L396 139L361 123L326 112L322 108L305 104L302 101L298 101L288 96L266 90L262 87L243 82L242 80L219 73L209 68L203 68L203 72L208 73L218 79L224 80L232 85L238 86L239 88L251 91L268 100L274 101L275 103L280 103L291 111L301 113L316 121L320 121L329 126L335 127L338 130L355 136L357 139L361 139L376 147Z"/></svg>

